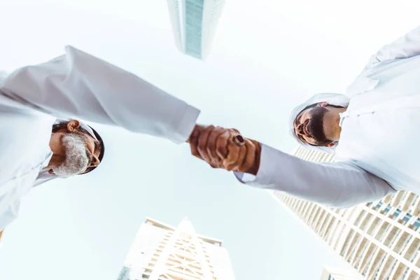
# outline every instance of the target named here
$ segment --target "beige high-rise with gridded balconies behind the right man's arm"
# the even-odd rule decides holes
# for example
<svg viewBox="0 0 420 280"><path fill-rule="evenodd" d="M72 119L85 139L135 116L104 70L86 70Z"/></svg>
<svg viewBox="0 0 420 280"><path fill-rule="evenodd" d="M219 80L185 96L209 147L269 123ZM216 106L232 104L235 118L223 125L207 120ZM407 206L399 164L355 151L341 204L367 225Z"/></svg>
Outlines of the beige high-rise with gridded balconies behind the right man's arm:
<svg viewBox="0 0 420 280"><path fill-rule="evenodd" d="M293 155L332 162L333 155L298 147ZM400 191L349 209L333 209L280 192L273 197L366 279L420 279L420 197Z"/></svg>

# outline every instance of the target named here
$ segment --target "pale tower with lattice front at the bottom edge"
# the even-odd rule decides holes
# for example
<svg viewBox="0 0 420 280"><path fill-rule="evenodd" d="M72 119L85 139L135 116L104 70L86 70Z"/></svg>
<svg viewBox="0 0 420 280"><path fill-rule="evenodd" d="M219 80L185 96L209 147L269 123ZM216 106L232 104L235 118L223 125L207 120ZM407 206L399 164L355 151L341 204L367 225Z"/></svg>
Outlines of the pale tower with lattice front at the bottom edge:
<svg viewBox="0 0 420 280"><path fill-rule="evenodd" d="M221 245L221 240L197 235L187 218L176 228L146 218L118 280L234 280Z"/></svg>

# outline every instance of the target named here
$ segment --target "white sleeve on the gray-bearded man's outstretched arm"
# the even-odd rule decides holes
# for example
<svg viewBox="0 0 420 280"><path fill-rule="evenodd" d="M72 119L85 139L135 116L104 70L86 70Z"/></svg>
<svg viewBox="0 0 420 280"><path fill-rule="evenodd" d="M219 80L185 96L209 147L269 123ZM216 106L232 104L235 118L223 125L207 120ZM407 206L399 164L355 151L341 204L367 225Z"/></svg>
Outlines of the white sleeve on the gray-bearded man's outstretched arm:
<svg viewBox="0 0 420 280"><path fill-rule="evenodd" d="M199 110L71 46L66 54L0 80L0 92L57 118L81 118L184 142Z"/></svg>

